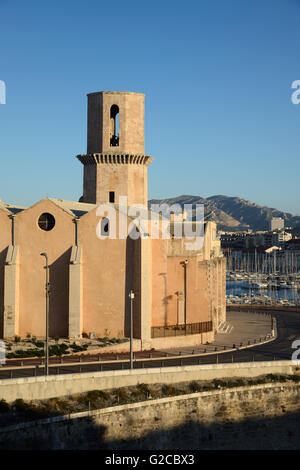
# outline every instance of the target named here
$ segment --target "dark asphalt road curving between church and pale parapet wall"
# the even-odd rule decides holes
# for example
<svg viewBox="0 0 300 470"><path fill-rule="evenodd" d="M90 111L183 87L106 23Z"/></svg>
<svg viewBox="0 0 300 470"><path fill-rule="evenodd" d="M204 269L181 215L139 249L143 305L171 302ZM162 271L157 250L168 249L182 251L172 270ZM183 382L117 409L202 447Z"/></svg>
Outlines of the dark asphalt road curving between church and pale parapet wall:
<svg viewBox="0 0 300 470"><path fill-rule="evenodd" d="M271 312L270 312L271 313ZM299 312L272 312L272 315L277 319L277 338L266 344L253 346L246 349L237 349L234 352L223 352L219 354L210 355L193 355L190 357L160 357L153 359L139 359L134 362L134 368L149 368L149 367L170 367L180 365L193 365L193 364L216 364L216 363L238 363L238 362L251 362L251 361L280 361L291 360L292 343L294 340L300 340L300 313ZM156 353L153 353L155 356ZM145 354L149 357L149 353ZM299 355L300 358L300 355ZM28 362L26 362L28 363ZM25 361L24 361L25 364ZM49 374L68 374L68 373L85 373L93 371L106 371L106 370L121 370L128 369L129 361L108 359L108 362L82 362L76 365L49 365ZM44 375L44 368L38 368L33 365L32 367L17 369L9 369L3 367L0 369L0 379L10 379L29 376Z"/></svg>

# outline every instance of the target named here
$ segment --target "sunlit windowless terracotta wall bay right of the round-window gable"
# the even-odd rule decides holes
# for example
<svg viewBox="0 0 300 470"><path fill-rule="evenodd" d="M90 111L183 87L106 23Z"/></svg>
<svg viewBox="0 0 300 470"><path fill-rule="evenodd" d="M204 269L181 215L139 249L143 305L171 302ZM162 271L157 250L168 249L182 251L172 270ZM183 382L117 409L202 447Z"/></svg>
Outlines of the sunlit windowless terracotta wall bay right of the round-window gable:
<svg viewBox="0 0 300 470"><path fill-rule="evenodd" d="M83 330L99 336L123 336L129 321L128 293L134 284L134 242L99 240L99 220L93 210L78 224L83 248Z"/></svg>

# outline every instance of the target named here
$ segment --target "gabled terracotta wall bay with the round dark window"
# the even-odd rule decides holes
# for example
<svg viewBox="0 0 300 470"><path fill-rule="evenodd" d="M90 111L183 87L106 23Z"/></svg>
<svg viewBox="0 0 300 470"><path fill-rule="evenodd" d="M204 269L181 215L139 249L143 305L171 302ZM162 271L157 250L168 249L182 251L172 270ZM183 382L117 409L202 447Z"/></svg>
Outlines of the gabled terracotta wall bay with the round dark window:
<svg viewBox="0 0 300 470"><path fill-rule="evenodd" d="M37 221L43 212L51 213L55 227L41 230ZM73 217L49 200L43 200L19 213L15 220L16 244L20 247L20 336L29 332L45 335L45 258L50 266L50 336L68 334L68 279L71 246L74 244Z"/></svg>

